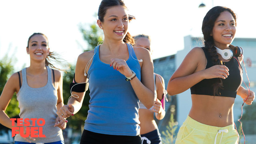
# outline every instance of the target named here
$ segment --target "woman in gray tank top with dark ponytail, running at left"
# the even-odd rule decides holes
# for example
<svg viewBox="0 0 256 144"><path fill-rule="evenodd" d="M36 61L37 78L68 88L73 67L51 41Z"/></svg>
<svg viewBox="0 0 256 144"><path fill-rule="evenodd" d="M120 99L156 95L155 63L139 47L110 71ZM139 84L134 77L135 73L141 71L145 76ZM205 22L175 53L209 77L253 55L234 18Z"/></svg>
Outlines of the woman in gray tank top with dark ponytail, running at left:
<svg viewBox="0 0 256 144"><path fill-rule="evenodd" d="M0 123L10 129L19 127L14 139L15 144L25 144L27 142L64 143L61 129L66 128L67 121L61 120L57 115L57 110L64 105L62 75L60 71L48 67L55 68L49 62L49 57L55 59L49 50L48 38L44 34L34 33L31 35L27 46L30 66L12 74L1 94ZM20 108L19 116L22 119L21 124L23 126L19 126L17 123L14 124L14 120L12 122L12 119L4 112L14 92L17 93ZM28 127L31 127L30 132L32 127L35 127L36 136L32 133L25 136L26 132L21 132L20 127L25 129L24 125L28 123Z"/></svg>

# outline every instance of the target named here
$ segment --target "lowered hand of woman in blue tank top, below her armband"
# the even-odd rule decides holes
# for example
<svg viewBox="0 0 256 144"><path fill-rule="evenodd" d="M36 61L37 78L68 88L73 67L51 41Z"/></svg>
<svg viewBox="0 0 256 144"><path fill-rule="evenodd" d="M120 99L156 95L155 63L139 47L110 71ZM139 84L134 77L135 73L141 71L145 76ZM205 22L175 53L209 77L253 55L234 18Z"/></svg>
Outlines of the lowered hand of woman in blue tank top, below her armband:
<svg viewBox="0 0 256 144"><path fill-rule="evenodd" d="M60 110L57 112L57 114L61 120L67 123L68 121L65 118L69 116L74 116L74 111L75 111L74 106L72 106L72 104L68 104L61 107Z"/></svg>

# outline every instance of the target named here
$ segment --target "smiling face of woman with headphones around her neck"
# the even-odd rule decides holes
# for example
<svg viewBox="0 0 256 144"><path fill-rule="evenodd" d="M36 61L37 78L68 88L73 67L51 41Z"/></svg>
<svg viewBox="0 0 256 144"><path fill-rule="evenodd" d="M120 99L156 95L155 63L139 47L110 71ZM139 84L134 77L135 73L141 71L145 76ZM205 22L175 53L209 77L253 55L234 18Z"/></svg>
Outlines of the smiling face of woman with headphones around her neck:
<svg viewBox="0 0 256 144"><path fill-rule="evenodd" d="M235 38L236 25L230 12L224 11L216 19L212 29L212 37L216 47L225 49Z"/></svg>

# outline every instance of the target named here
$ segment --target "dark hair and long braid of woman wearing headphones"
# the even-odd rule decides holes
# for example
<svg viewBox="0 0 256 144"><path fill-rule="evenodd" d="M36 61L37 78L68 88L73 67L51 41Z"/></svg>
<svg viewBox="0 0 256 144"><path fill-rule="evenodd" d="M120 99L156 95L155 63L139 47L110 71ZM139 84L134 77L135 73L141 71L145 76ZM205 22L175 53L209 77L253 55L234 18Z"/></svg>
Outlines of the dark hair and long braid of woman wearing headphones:
<svg viewBox="0 0 256 144"><path fill-rule="evenodd" d="M204 40L205 40L204 45L212 57L213 65L220 65L220 60L217 55L216 48L214 47L214 40L212 37L212 29L214 27L214 23L215 23L216 19L220 16L220 13L224 12L224 11L228 11L231 13L233 18L235 19L235 24L236 24L236 14L231 9L229 9L227 7L223 7L223 6L215 6L211 10L209 10L205 15L203 24L202 24L202 32L203 32ZM217 78L217 79L218 79L217 82L212 85L214 95L215 94L220 95L218 93L218 89L222 88L222 85L223 85L221 78Z"/></svg>

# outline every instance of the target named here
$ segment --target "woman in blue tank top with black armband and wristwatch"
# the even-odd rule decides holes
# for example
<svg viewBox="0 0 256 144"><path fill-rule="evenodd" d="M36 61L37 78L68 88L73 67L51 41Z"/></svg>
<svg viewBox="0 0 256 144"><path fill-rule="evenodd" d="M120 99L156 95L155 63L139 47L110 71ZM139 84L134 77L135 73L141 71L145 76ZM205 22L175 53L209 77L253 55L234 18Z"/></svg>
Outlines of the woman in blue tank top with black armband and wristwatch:
<svg viewBox="0 0 256 144"><path fill-rule="evenodd" d="M154 103L153 61L148 50L132 47L127 32L129 21L122 0L103 0L97 24L104 32L104 42L94 50L79 55L76 63L77 83L89 80L90 105L83 144L141 144L139 101L147 108ZM85 92L72 92L60 118L76 114Z"/></svg>

